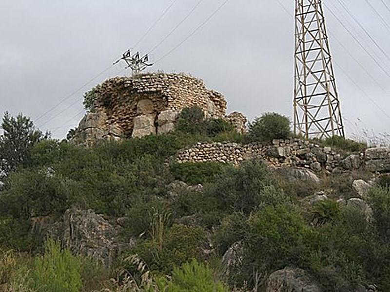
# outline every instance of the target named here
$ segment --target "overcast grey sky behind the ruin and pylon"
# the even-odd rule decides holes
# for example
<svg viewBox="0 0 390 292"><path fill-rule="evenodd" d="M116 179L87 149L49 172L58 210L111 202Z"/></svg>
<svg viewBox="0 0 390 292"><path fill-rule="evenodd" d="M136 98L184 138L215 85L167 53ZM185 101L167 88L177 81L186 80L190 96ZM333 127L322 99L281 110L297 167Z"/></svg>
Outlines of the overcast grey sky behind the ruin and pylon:
<svg viewBox="0 0 390 292"><path fill-rule="evenodd" d="M339 1L324 3L390 72L390 60L374 47ZM369 0L382 15L381 21L365 0L343 1L390 55L390 10L381 0ZM384 1L390 6L389 0ZM6 110L13 115L22 112L42 130L51 130L56 138L64 137L83 115L83 92L108 77L123 74L123 64L50 109L134 46L171 2L0 0L0 114ZM148 52L197 2L176 0L136 49ZM186 38L222 2L203 0L156 48L152 60ZM225 95L228 111L241 111L249 119L267 111L292 117L293 6L292 0L229 0L201 30L151 70L202 78L208 88ZM351 136L361 128L389 132L389 76L378 69L326 7L325 13L347 133Z"/></svg>

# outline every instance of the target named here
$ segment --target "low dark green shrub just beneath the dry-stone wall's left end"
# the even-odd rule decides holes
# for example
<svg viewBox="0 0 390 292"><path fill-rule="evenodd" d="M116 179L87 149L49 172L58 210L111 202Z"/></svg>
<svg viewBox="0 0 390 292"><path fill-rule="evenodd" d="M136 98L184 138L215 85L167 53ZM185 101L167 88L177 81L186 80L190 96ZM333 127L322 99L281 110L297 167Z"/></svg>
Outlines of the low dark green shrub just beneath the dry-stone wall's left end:
<svg viewBox="0 0 390 292"><path fill-rule="evenodd" d="M217 175L220 175L226 164L218 162L200 162L200 163L174 163L170 170L176 180L188 184L212 183Z"/></svg>

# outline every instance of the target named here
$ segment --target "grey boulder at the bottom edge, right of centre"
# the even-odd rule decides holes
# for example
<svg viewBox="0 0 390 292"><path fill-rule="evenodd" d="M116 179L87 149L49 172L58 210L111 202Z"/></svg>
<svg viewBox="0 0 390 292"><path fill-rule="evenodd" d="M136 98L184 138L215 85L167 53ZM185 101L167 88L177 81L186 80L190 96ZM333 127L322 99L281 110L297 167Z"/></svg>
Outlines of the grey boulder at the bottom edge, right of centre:
<svg viewBox="0 0 390 292"><path fill-rule="evenodd" d="M266 281L266 292L321 292L322 289L304 270L285 268L273 272Z"/></svg>

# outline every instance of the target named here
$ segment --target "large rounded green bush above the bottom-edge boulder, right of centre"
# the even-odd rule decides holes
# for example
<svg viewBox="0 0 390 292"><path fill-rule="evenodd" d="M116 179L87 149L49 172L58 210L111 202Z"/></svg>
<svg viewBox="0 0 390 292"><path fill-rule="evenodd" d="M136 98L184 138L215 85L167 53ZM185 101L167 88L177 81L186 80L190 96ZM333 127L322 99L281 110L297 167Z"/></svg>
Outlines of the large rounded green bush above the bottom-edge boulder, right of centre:
<svg viewBox="0 0 390 292"><path fill-rule="evenodd" d="M296 211L283 205L266 207L252 214L248 224L244 241L247 278L254 270L265 276L288 265L306 264L312 231Z"/></svg>

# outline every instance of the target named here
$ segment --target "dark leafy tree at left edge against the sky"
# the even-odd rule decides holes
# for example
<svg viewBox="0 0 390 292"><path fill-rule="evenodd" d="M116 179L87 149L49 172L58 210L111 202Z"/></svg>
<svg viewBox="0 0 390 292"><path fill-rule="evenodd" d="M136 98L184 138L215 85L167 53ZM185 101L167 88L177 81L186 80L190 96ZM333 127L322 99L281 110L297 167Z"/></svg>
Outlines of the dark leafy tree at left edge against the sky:
<svg viewBox="0 0 390 292"><path fill-rule="evenodd" d="M12 117L5 112L1 128L0 176L8 175L21 164L27 164L31 147L50 135L36 129L30 118L22 114Z"/></svg>

